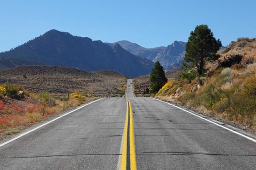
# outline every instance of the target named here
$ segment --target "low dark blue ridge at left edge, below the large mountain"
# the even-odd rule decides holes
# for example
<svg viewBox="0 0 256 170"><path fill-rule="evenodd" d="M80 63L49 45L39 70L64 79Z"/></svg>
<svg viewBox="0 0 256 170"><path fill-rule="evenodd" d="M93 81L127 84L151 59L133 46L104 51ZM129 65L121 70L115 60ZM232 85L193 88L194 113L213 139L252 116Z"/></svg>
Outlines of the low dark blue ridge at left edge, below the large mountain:
<svg viewBox="0 0 256 170"><path fill-rule="evenodd" d="M43 63L34 60L22 58L0 58L0 70L17 67L20 65L43 65Z"/></svg>

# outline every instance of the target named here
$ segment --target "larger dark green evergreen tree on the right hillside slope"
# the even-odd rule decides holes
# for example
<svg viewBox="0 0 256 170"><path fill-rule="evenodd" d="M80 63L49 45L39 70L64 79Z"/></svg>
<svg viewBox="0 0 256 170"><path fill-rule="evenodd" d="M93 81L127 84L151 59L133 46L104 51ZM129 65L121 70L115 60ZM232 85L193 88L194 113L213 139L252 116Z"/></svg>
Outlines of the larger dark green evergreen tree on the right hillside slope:
<svg viewBox="0 0 256 170"><path fill-rule="evenodd" d="M216 53L221 46L221 41L215 39L207 25L197 25L186 44L183 68L196 67L198 74L203 75L206 72L205 62L218 59L219 55Z"/></svg>

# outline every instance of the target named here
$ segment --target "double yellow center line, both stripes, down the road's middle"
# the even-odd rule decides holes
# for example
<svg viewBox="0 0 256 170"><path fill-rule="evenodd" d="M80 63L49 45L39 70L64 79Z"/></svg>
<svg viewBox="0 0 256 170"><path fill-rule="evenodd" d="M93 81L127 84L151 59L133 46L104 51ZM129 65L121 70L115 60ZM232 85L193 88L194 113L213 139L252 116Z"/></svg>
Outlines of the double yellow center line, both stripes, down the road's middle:
<svg viewBox="0 0 256 170"><path fill-rule="evenodd" d="M124 138L122 147L121 170L136 170L135 141L133 130L132 106L126 98L127 111L124 127Z"/></svg>

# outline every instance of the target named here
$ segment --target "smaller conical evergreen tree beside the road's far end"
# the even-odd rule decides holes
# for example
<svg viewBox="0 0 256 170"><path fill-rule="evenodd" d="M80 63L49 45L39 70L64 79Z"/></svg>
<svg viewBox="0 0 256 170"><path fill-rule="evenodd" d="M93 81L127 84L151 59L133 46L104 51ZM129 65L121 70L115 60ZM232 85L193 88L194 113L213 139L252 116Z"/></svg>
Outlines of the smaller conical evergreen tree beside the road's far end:
<svg viewBox="0 0 256 170"><path fill-rule="evenodd" d="M150 87L152 93L157 93L158 90L165 85L167 78L163 67L160 65L159 61L156 61L154 68L150 74Z"/></svg>

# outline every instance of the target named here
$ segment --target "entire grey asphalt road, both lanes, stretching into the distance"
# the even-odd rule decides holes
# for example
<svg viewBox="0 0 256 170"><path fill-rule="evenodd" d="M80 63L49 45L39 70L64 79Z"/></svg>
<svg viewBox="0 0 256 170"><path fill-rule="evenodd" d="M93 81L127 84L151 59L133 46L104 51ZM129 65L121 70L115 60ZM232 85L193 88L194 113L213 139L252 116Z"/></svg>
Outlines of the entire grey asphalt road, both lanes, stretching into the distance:
<svg viewBox="0 0 256 170"><path fill-rule="evenodd" d="M131 83L128 98L103 98L2 145L0 169L256 169L255 141L134 98Z"/></svg>

